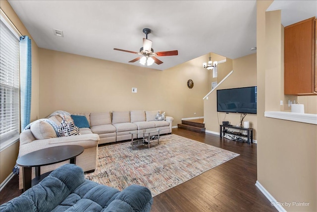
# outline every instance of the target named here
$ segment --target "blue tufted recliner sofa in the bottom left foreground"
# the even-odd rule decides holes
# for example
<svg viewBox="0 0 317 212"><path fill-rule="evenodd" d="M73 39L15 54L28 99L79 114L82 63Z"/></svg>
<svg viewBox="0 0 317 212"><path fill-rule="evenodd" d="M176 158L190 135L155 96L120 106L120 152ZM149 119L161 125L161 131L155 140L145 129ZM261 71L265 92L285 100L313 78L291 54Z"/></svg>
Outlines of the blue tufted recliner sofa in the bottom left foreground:
<svg viewBox="0 0 317 212"><path fill-rule="evenodd" d="M119 191L86 180L82 168L65 164L19 197L0 206L0 212L149 212L151 191L131 185Z"/></svg>

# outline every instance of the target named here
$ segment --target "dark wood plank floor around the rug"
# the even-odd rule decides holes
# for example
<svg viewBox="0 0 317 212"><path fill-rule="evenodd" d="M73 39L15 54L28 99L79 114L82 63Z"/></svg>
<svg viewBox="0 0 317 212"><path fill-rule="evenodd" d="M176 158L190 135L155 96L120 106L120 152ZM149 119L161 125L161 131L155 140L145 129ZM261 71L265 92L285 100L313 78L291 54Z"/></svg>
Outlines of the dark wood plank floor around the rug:
<svg viewBox="0 0 317 212"><path fill-rule="evenodd" d="M276 212L257 181L257 144L220 139L213 134L173 129L189 139L227 149L240 155L156 197L151 212ZM0 204L22 194L18 177L0 192Z"/></svg>

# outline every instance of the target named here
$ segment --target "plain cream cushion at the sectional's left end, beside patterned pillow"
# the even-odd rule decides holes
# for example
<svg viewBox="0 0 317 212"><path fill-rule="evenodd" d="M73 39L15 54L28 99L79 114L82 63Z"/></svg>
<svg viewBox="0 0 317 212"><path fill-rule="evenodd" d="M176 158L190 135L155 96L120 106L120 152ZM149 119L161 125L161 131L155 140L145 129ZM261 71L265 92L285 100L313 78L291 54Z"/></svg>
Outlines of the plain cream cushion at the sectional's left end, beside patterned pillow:
<svg viewBox="0 0 317 212"><path fill-rule="evenodd" d="M56 138L56 132L51 124L43 120L37 120L32 123L30 128L33 136L38 139L51 139Z"/></svg>

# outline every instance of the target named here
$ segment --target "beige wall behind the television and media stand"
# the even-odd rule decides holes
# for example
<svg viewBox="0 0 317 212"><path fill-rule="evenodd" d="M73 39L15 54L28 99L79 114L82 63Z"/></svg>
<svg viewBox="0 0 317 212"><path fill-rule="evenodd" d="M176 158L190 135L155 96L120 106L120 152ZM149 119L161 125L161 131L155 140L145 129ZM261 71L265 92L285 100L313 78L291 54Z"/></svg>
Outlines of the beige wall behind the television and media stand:
<svg viewBox="0 0 317 212"><path fill-rule="evenodd" d="M235 60L227 60L230 67L232 62L233 73L224 80L217 89L248 87L257 85L257 54L251 54ZM220 67L219 67L219 71ZM231 125L240 125L240 114L217 112L216 90L212 91L208 99L204 100L204 117L207 131L219 133L219 124L222 121L229 121ZM254 140L257 140L257 115L248 114L244 121L250 122L250 127L254 128Z"/></svg>

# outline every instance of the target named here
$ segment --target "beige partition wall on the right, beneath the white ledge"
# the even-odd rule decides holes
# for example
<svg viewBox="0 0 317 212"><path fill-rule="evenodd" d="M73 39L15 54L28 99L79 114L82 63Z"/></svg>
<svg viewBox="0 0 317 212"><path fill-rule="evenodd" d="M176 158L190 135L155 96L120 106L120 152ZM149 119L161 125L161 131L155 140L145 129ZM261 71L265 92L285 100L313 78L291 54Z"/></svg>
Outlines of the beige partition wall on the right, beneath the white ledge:
<svg viewBox="0 0 317 212"><path fill-rule="evenodd" d="M276 95L283 88L274 80L280 83L272 89L268 77L272 70L278 77L283 67L283 51L274 50L282 39L280 11L265 12L271 2L257 1L258 181L276 201L309 203L287 211L317 211L317 126L264 117L268 109L279 111Z"/></svg>

